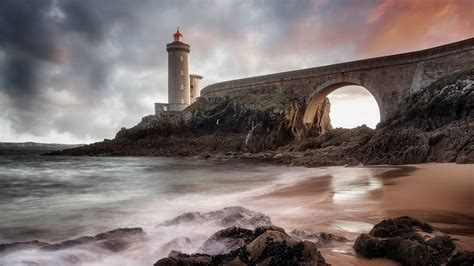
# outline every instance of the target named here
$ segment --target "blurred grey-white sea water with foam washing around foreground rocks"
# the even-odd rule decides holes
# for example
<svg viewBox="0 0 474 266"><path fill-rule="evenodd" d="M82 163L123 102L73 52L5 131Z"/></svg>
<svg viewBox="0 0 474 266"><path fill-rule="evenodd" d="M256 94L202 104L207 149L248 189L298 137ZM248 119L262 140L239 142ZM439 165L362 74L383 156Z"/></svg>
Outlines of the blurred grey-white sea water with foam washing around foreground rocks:
<svg viewBox="0 0 474 266"><path fill-rule="evenodd" d="M133 251L20 251L0 254L0 265L152 264L165 241L219 228L157 225L184 212L241 205L273 186L296 182L310 169L264 163L157 157L0 156L0 243L58 242L116 228L142 227L152 241ZM188 236L186 236L188 237Z"/></svg>

